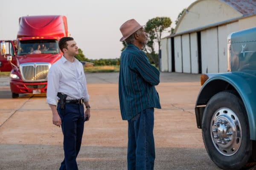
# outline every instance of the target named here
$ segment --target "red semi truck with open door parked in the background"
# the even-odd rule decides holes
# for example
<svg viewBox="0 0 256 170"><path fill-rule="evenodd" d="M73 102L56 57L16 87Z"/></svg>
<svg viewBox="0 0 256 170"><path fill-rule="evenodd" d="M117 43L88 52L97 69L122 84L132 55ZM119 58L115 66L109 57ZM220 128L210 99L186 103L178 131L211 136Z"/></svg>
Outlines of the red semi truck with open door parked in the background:
<svg viewBox="0 0 256 170"><path fill-rule="evenodd" d="M18 48L11 40L0 41L0 71L11 71L12 98L47 91L47 74L61 58L58 41L68 37L67 18L60 15L19 18Z"/></svg>

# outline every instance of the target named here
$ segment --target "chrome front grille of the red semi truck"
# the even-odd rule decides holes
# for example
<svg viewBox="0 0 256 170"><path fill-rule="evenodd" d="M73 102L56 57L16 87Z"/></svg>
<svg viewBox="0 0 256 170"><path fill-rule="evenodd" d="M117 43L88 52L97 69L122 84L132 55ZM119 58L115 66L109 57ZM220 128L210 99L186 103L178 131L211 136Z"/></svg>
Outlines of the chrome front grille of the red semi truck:
<svg viewBox="0 0 256 170"><path fill-rule="evenodd" d="M49 63L26 63L20 65L20 73L25 82L46 82Z"/></svg>

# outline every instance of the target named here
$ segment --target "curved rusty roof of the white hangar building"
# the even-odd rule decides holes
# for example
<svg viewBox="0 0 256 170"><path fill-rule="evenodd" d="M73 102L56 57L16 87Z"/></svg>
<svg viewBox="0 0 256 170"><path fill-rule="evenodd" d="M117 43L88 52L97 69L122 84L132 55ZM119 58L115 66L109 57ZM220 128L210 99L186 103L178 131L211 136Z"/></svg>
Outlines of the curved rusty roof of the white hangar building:
<svg viewBox="0 0 256 170"><path fill-rule="evenodd" d="M189 11L193 6L195 6L195 4L200 3L201 1L204 1L204 0L196 0L188 8L186 8L186 11ZM228 6L232 7L234 10L238 11L241 14L241 17L247 17L250 15L256 14L256 0L216 0L216 1L225 3ZM182 16L180 17L180 20L178 21L175 27L174 33L176 33L177 28L179 27L185 15L186 15L186 12L183 12Z"/></svg>

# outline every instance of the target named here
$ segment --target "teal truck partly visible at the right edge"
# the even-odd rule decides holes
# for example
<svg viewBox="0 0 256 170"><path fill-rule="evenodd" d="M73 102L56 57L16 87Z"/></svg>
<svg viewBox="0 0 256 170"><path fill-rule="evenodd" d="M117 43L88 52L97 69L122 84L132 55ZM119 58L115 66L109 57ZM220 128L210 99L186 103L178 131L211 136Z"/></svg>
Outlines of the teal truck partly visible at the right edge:
<svg viewBox="0 0 256 170"><path fill-rule="evenodd" d="M195 104L212 161L225 170L256 164L256 27L227 37L227 72L202 74Z"/></svg>

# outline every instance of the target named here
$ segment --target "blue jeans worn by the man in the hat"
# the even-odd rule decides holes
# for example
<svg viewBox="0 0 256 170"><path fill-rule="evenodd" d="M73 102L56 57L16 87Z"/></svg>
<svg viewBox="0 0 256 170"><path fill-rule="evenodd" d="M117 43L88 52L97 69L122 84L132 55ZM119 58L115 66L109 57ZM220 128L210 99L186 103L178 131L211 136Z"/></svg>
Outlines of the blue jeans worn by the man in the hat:
<svg viewBox="0 0 256 170"><path fill-rule="evenodd" d="M154 170L154 108L128 120L128 170Z"/></svg>

